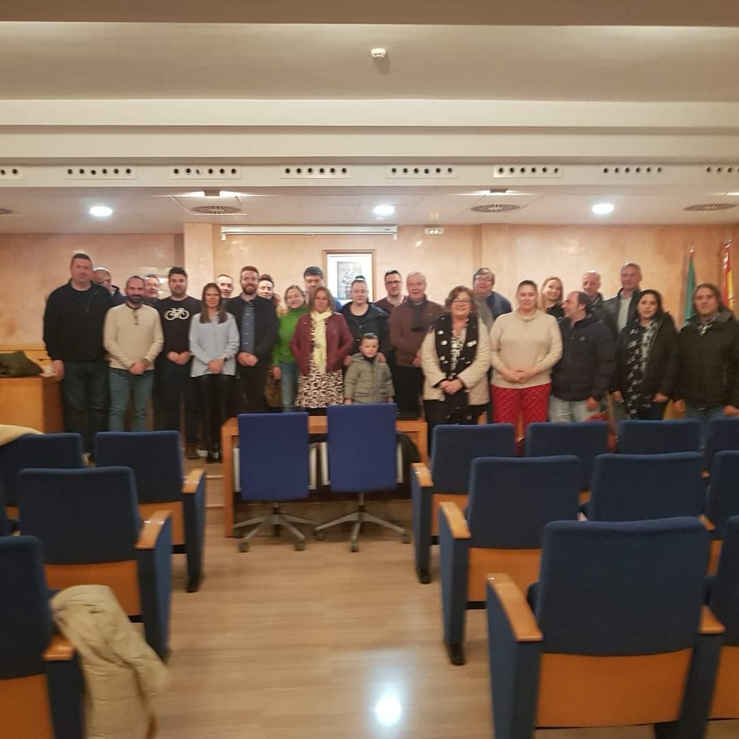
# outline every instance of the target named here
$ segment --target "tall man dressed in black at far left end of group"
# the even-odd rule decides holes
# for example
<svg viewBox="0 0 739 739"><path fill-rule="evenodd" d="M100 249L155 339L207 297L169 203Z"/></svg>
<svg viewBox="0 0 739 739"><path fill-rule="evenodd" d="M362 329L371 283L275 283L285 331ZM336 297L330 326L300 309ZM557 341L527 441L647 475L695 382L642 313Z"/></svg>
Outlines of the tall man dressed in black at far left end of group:
<svg viewBox="0 0 739 739"><path fill-rule="evenodd" d="M61 382L64 428L81 434L86 451L92 452L95 434L106 429L108 365L103 322L113 302L105 287L92 282L88 254L72 256L69 272L69 282L47 299L44 344Z"/></svg>

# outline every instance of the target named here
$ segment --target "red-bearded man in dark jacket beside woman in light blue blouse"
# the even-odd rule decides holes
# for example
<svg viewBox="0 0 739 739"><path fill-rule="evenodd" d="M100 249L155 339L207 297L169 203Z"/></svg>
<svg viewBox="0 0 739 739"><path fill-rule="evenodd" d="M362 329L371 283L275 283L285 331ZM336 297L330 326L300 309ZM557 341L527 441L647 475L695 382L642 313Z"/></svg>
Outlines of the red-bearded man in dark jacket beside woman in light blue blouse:
<svg viewBox="0 0 739 739"><path fill-rule="evenodd" d="M265 381L270 368L272 348L277 341L277 313L271 300L256 294L259 270L247 266L241 270L242 293L226 303L239 327L239 412L265 410Z"/></svg>

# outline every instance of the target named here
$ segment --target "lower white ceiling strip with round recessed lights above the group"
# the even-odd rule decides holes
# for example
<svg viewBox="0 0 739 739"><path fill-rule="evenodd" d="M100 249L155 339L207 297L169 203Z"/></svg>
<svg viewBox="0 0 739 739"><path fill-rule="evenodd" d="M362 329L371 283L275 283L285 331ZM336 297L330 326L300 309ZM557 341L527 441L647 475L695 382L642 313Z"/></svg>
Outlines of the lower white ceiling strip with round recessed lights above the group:
<svg viewBox="0 0 739 739"><path fill-rule="evenodd" d="M0 208L13 215L0 216L0 233L180 233L185 222L231 225L476 225L519 224L726 224L739 222L739 207L713 213L689 213L687 205L730 202L739 206L739 195L726 196L709 188L562 187L532 186L525 194L484 195L482 191L452 187L404 188L253 188L241 197L189 197L186 190L168 193L155 188L107 188L106 190L45 188L0 190ZM251 197L250 197L251 196ZM616 211L596 217L595 202L613 202ZM520 211L480 214L474 205L511 202ZM89 216L92 205L109 205L108 219ZM195 216L194 205L231 205L242 208L234 216ZM372 208L395 205L395 213L378 219Z"/></svg>

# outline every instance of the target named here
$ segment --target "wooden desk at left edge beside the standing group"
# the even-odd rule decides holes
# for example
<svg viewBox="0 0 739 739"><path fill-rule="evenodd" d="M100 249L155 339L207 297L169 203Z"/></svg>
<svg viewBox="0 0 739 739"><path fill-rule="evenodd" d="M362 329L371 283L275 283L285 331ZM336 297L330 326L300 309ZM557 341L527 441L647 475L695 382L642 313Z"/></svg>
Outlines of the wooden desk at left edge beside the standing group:
<svg viewBox="0 0 739 739"><path fill-rule="evenodd" d="M61 393L55 377L0 378L0 423L53 434L64 431Z"/></svg>

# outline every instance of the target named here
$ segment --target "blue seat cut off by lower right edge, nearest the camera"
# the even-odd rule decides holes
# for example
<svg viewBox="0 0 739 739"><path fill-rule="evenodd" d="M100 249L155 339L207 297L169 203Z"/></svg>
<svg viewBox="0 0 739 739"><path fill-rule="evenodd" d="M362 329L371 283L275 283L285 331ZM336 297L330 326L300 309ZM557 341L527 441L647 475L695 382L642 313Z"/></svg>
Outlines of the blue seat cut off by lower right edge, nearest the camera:
<svg viewBox="0 0 739 739"><path fill-rule="evenodd" d="M726 627L710 717L739 718L739 516L731 517L724 526L709 607Z"/></svg>

